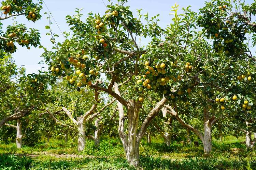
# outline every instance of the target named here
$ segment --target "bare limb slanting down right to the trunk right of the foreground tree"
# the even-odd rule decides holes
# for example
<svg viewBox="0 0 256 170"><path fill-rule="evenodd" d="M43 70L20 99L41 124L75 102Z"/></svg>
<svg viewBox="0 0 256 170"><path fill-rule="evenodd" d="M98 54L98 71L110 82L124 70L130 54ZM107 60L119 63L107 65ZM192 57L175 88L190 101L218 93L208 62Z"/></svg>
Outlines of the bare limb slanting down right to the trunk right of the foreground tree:
<svg viewBox="0 0 256 170"><path fill-rule="evenodd" d="M194 128L193 126L187 124L186 122L184 122L179 115L174 111L174 109L171 106L165 105L165 107L167 107L169 110L167 111L167 113L171 114L172 116L174 116L179 122L180 124L184 127L187 128L191 131L193 131L202 141L203 141L203 135L201 134L201 132L199 132L196 128Z"/></svg>

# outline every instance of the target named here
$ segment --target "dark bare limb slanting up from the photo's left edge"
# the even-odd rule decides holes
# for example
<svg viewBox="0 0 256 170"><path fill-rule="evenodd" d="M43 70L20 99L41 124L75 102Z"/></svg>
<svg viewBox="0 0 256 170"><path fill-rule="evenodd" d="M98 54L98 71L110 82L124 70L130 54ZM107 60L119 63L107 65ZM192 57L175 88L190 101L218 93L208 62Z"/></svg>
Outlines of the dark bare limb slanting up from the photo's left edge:
<svg viewBox="0 0 256 170"><path fill-rule="evenodd" d="M17 119L20 119L20 118L23 118L25 117L26 115L28 115L33 109L35 109L36 107L35 106L30 106L29 108L26 108L26 109L22 109L20 112L17 112L16 113L16 110L15 110L15 113L11 116L8 116L8 117L5 117L3 118L1 121L0 121L0 128L8 121L12 121L12 120L17 120Z"/></svg>

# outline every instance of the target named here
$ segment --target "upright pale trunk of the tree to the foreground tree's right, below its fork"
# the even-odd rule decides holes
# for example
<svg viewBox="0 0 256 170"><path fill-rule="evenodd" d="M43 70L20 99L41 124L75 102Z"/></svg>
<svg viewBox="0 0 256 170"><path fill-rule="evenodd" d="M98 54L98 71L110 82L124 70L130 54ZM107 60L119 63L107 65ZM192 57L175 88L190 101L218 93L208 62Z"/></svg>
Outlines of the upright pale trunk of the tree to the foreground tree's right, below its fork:
<svg viewBox="0 0 256 170"><path fill-rule="evenodd" d="M204 136L203 136L203 151L204 151L204 155L210 155L211 151L212 151L212 127L211 125L208 124L207 122L204 122Z"/></svg>

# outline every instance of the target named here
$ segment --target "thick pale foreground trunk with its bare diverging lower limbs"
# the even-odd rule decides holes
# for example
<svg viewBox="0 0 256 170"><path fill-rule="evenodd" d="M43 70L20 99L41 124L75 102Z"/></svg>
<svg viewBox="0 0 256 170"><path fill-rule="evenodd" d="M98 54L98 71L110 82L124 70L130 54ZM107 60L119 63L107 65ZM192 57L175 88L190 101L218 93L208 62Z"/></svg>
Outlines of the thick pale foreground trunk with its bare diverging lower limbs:
<svg viewBox="0 0 256 170"><path fill-rule="evenodd" d="M120 92L118 89L118 84L114 83L114 90L116 95L120 98ZM139 111L142 107L141 103L138 101L131 99L125 101L123 98L119 99L117 102L118 110L119 110L119 124L118 124L118 133L119 137L122 141L127 162L134 166L138 167L140 164L139 160L139 143L142 137L145 135L148 125L151 120L157 115L160 109L163 107L167 98L163 97L160 102L148 113L148 116L145 118L143 123L141 124L141 129L138 131L138 123L139 123ZM120 103L122 102L122 103ZM128 134L126 135L124 132L125 125L125 117L124 117L124 108L123 104L125 104L127 108L127 117L128 117Z"/></svg>

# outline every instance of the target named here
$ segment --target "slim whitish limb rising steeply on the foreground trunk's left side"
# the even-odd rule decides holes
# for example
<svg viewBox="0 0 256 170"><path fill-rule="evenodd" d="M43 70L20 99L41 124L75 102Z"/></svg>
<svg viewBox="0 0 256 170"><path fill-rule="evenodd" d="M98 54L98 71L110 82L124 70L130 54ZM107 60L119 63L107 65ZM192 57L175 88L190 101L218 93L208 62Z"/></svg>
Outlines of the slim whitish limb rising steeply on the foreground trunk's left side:
<svg viewBox="0 0 256 170"><path fill-rule="evenodd" d="M115 83L114 84L114 90L115 93L121 97L120 91L118 89L118 84ZM117 101L117 107L118 107L118 111L119 111L119 124L118 124L118 133L119 136L122 140L122 143L127 144L127 140L126 140L126 134L124 132L124 125L125 125L125 116L124 116L124 108L123 108L123 104L120 103L119 101ZM125 145L126 146L126 145Z"/></svg>

